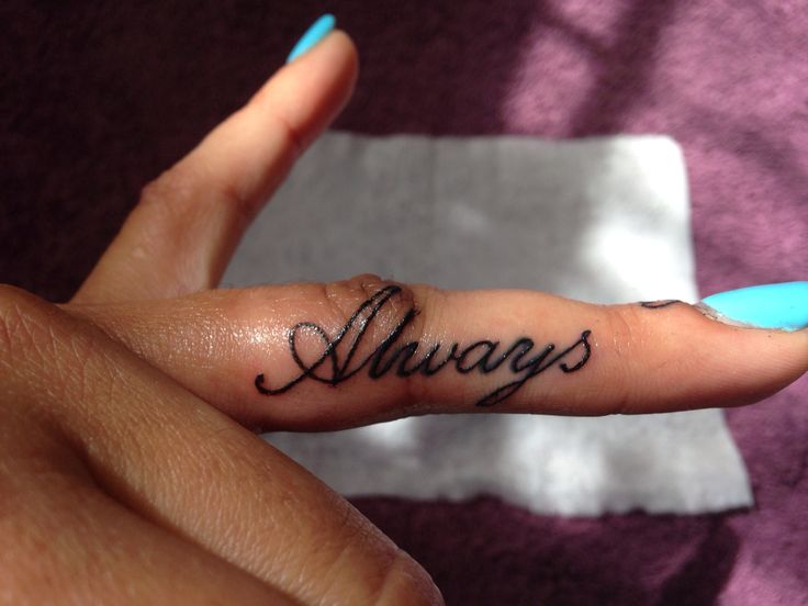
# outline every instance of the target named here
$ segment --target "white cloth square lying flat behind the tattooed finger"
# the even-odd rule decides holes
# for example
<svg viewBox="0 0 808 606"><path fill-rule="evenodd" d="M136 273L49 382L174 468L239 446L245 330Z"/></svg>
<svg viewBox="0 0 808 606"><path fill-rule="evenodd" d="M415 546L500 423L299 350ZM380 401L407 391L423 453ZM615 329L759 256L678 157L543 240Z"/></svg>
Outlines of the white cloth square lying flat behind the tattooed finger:
<svg viewBox="0 0 808 606"><path fill-rule="evenodd" d="M697 299L682 150L665 136L329 133L249 229L226 285L375 272L592 302ZM501 495L537 513L748 506L720 411L436 415L266 438L346 495Z"/></svg>

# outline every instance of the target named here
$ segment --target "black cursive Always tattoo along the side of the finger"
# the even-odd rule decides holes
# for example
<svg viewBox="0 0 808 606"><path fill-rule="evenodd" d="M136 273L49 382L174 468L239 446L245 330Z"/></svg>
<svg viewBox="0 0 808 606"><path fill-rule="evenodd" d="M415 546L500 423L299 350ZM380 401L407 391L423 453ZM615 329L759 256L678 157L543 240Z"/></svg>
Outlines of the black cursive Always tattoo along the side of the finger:
<svg viewBox="0 0 808 606"><path fill-rule="evenodd" d="M301 371L300 374L279 388L269 388L263 373L258 374L255 380L258 392L263 395L278 395L291 390L305 379L336 386L366 369L369 378L381 379L391 372L401 378L416 373L433 377L447 367L453 367L460 374L469 374L474 371L490 374L501 367L507 367L516 379L496 388L476 402L478 406L493 406L510 397L530 379L552 367L558 367L564 373L581 370L592 355L592 346L588 340L592 330L582 332L572 345L560 351L557 350L554 344L546 345L534 351L536 344L529 337L517 338L502 350L501 341L487 339L465 347L453 343L448 349L444 349L441 343L431 346L424 346L419 341L400 344L402 333L418 314L415 307L411 307L392 330L375 345L371 354L358 360L357 350L366 338L368 329L381 310L401 290L401 287L396 285L381 289L359 305L350 319L333 338L322 326L313 322L295 324L288 333L288 343L292 359ZM312 362L303 361L300 356L298 341L301 334L313 335L322 341L322 352ZM347 347L347 350L341 357L337 349L344 341L346 345L341 349ZM418 351L425 352L418 357ZM574 363L569 363L568 360Z"/></svg>

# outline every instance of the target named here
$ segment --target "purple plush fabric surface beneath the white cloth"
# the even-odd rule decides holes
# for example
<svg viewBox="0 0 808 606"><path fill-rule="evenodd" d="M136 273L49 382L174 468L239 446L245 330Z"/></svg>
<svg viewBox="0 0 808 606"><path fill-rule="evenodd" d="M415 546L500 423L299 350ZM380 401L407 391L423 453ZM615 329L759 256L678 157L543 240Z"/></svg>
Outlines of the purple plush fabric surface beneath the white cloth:
<svg viewBox="0 0 808 606"><path fill-rule="evenodd" d="M808 279L805 0L7 0L0 280L67 299L141 186L325 10L362 57L338 127L667 133L687 159L703 292ZM569 520L494 498L356 505L449 604L808 604L808 379L729 422L751 512Z"/></svg>

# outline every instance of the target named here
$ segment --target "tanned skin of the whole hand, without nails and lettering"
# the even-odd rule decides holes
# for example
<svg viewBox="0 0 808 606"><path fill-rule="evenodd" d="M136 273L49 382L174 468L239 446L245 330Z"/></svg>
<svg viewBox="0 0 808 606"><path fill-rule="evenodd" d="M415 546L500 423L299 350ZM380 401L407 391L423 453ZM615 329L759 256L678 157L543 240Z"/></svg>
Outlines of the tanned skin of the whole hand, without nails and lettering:
<svg viewBox="0 0 808 606"><path fill-rule="evenodd" d="M440 604L428 574L257 427L322 430L433 412L649 413L755 402L808 370L808 333L726 326L689 305L595 306L525 291L402 285L367 355L409 308L402 343L570 344L491 408L507 369L336 386L302 381L288 332L329 335L389 285L216 291L252 216L350 97L341 32L281 68L245 108L148 184L72 301L0 288L0 603ZM322 343L303 345L316 358ZM306 350L306 348L308 348ZM422 349L423 351L423 349ZM247 428L245 428L245 426ZM248 429L249 428L249 429Z"/></svg>

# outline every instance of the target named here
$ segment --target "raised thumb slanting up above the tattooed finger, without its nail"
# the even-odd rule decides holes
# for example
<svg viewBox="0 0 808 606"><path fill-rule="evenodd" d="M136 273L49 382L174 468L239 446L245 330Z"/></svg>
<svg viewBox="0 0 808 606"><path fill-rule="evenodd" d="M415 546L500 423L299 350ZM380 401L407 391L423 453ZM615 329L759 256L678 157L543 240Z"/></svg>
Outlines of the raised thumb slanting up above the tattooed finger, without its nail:
<svg viewBox="0 0 808 606"><path fill-rule="evenodd" d="M74 301L213 288L252 217L350 97L357 49L341 31L282 67L188 156L147 184Z"/></svg>

